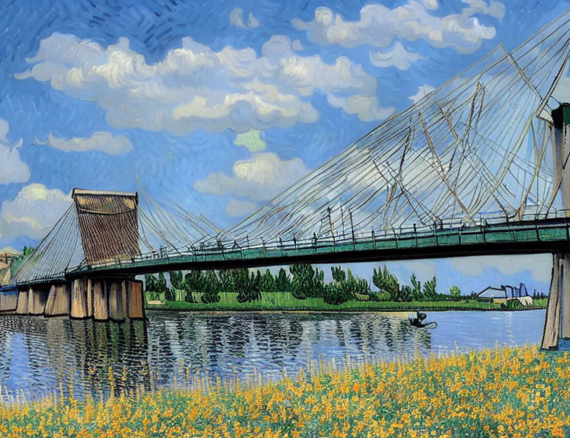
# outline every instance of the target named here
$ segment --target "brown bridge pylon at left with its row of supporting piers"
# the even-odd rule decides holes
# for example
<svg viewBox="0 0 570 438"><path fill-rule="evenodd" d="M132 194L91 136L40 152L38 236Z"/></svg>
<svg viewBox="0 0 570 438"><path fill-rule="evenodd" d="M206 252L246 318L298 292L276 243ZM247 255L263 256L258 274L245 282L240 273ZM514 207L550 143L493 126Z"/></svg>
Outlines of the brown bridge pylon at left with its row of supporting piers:
<svg viewBox="0 0 570 438"><path fill-rule="evenodd" d="M138 247L138 194L73 189L85 261L90 266L129 260ZM32 285L18 294L16 314L94 318L145 318L143 282L133 277L84 277Z"/></svg>

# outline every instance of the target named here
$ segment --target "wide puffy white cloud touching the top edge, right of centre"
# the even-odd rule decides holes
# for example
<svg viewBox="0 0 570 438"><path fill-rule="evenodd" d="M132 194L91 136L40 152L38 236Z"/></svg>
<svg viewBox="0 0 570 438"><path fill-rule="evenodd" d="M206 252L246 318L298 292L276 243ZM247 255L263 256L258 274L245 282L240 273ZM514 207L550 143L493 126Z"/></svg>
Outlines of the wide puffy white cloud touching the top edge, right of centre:
<svg viewBox="0 0 570 438"><path fill-rule="evenodd" d="M314 20L305 23L298 18L292 21L296 29L308 29L310 38L318 44L339 44L343 47L370 45L388 47L395 38L414 41L425 40L434 47L452 47L459 53L472 53L482 40L495 37L495 27L482 25L474 14L495 18L504 16L504 5L497 1L487 4L483 0L463 0L467 6L461 14L434 16L417 1L390 9L384 5L365 5L360 20L345 21L343 16L321 6L314 12ZM423 1L428 9L434 1Z"/></svg>

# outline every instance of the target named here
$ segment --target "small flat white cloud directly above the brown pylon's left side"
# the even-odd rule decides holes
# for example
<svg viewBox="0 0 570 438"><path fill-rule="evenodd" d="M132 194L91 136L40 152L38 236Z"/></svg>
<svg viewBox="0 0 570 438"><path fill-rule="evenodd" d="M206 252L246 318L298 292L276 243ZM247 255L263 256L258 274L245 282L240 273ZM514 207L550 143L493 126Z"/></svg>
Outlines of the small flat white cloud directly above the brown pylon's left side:
<svg viewBox="0 0 570 438"><path fill-rule="evenodd" d="M59 138L50 132L47 142L36 141L39 144L49 144L49 146L65 152L101 151L110 155L119 155L133 149L131 140L127 137L114 136L108 131L97 131L87 138Z"/></svg>

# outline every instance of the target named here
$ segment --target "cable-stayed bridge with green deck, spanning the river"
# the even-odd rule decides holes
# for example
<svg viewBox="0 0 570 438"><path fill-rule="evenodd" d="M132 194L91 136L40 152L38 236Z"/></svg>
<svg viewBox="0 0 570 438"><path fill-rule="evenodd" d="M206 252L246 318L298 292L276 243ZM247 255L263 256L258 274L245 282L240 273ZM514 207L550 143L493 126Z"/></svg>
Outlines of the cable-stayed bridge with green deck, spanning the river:
<svg viewBox="0 0 570 438"><path fill-rule="evenodd" d="M92 302L83 289L106 288L98 279L159 270L551 252L543 346L554 346L560 324L570 336L570 106L552 96L569 55L570 11L512 51L499 45L231 229L144 192L139 202L76 190L14 281L73 281L81 316Z"/></svg>

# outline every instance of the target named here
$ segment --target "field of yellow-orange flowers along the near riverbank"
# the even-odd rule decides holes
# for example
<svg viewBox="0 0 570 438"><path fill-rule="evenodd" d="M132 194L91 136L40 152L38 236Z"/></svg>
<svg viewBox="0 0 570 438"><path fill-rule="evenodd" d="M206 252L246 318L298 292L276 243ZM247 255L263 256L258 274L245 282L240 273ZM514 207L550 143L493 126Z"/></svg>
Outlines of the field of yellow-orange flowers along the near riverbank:
<svg viewBox="0 0 570 438"><path fill-rule="evenodd" d="M536 346L232 386L4 406L0 436L570 436L570 355Z"/></svg>

